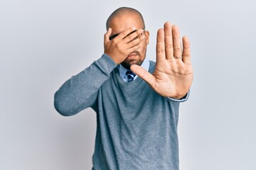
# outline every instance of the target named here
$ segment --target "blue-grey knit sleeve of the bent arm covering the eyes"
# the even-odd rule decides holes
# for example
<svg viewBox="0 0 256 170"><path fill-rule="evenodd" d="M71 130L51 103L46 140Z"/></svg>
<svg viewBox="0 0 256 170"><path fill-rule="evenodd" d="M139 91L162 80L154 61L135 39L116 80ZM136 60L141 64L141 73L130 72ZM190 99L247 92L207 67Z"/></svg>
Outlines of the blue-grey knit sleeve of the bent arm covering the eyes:
<svg viewBox="0 0 256 170"><path fill-rule="evenodd" d="M100 86L110 78L117 67L106 54L79 74L71 77L54 94L54 106L61 115L75 115L85 108L95 106ZM95 108L94 108L95 109Z"/></svg>

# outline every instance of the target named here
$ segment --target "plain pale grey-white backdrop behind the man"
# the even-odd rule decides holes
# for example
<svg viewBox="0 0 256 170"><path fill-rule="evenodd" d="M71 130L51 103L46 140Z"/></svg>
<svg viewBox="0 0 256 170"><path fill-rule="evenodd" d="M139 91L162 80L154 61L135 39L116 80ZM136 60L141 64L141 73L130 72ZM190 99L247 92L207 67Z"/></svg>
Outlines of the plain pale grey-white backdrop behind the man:
<svg viewBox="0 0 256 170"><path fill-rule="evenodd" d="M191 40L194 80L178 123L181 170L256 169L254 0L0 2L0 169L91 169L95 113L63 117L53 94L103 53L107 17L142 12L155 60L166 21Z"/></svg>

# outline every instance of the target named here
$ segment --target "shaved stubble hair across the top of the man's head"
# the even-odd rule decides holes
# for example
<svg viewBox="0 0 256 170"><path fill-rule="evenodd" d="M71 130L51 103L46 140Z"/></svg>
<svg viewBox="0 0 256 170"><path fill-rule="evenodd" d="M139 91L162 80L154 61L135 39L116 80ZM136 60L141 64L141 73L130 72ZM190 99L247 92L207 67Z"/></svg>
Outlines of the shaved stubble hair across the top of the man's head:
<svg viewBox="0 0 256 170"><path fill-rule="evenodd" d="M135 15L135 16L137 16L139 21L142 22L143 28L145 28L145 23L144 23L144 19L142 17L142 13L140 13L139 11L137 11L134 8L121 7L121 8L117 8L117 10L115 10L110 15L110 17L107 18L107 23L106 23L107 30L108 30L108 28L110 28L110 23L111 23L113 18L119 17L119 16L125 16L125 15Z"/></svg>

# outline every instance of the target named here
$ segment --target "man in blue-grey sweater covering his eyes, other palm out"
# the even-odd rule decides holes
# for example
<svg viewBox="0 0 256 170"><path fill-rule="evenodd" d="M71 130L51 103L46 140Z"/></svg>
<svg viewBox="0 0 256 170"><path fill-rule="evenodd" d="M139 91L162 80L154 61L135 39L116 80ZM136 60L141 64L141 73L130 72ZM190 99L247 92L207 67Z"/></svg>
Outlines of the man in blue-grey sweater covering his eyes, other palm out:
<svg viewBox="0 0 256 170"><path fill-rule="evenodd" d="M107 20L102 57L55 93L62 115L88 107L97 113L92 169L178 169L178 106L193 79L188 38L182 40L183 47L178 27L165 23L156 63L146 60L141 13L118 8Z"/></svg>

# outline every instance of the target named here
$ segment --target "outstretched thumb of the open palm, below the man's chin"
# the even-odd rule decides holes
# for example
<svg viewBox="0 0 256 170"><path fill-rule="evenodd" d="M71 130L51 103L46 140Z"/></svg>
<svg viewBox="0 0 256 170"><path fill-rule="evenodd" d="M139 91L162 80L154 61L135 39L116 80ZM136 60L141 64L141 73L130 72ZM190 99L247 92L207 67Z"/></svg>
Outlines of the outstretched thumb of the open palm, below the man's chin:
<svg viewBox="0 0 256 170"><path fill-rule="evenodd" d="M156 84L156 78L150 74L148 71L146 71L146 69L140 67L137 64L133 64L130 69L132 70L132 72L134 72L134 74L137 74L138 77L144 79L144 81L146 81L149 86L151 86L152 88L154 88L155 84Z"/></svg>

